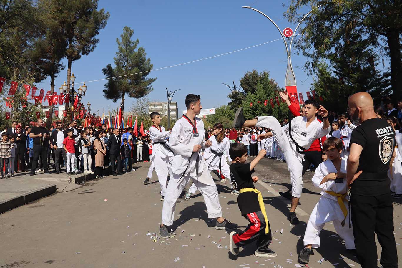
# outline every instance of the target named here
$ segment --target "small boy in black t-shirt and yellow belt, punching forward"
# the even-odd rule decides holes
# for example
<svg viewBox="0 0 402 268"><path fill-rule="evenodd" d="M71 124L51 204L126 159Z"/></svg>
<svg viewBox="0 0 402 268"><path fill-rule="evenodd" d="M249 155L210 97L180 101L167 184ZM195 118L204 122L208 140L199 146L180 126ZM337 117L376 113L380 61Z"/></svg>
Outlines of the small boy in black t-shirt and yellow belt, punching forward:
<svg viewBox="0 0 402 268"><path fill-rule="evenodd" d="M266 150L260 150L258 156L246 163L247 147L241 143L232 143L229 149L229 155L232 164L229 167L230 179L233 186L240 192L237 203L242 216L244 216L250 224L240 232L232 232L229 236L229 249L233 255L239 253L239 247L244 246L256 240L257 250L254 255L258 257L275 257L277 254L268 246L271 244L272 235L265 206L261 193L254 188L254 183L258 181L257 176L251 177L254 173L255 165L265 157Z"/></svg>

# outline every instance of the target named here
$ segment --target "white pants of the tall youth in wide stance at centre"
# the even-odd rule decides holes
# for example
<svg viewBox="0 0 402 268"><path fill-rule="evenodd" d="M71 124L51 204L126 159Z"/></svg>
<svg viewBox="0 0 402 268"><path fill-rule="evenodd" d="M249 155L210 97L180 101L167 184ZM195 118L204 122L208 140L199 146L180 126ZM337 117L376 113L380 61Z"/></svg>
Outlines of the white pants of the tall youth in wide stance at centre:
<svg viewBox="0 0 402 268"><path fill-rule="evenodd" d="M155 164L156 167L156 164ZM173 224L174 210L176 209L176 202L186 184L193 179L195 186L204 197L205 206L207 207L208 218L222 217L222 207L218 198L218 190L216 185L209 174L208 169L204 168L198 177L204 176L203 181L209 181L208 184L197 182L196 177L191 177L190 174L183 176L181 174L174 174L170 172L170 180L166 188L166 195L162 207L162 223L163 225L170 226ZM209 177L209 178L208 178Z"/></svg>

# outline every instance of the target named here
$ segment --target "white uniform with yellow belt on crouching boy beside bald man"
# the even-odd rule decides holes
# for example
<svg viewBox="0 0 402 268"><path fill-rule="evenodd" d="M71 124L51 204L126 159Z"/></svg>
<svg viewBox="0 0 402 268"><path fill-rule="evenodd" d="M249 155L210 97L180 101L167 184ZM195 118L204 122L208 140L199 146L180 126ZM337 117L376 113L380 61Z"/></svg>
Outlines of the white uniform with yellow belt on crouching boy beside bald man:
<svg viewBox="0 0 402 268"><path fill-rule="evenodd" d="M355 237L347 209L349 195L347 194L346 177L328 180L326 183L320 184L326 175L336 172L338 172L336 167L328 159L318 165L312 178L314 186L321 189L322 196L308 219L303 239L304 245L311 244L312 247L320 247L320 231L324 228L325 223L332 221L336 233L345 241L345 247L355 249ZM340 172L346 174L346 159L342 159Z"/></svg>

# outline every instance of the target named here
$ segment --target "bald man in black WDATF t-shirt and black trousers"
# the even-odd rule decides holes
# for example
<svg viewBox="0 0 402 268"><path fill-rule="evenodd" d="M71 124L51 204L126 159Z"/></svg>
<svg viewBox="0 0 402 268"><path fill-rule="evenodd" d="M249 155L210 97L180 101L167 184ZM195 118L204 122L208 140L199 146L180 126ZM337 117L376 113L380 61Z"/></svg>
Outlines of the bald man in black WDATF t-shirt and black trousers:
<svg viewBox="0 0 402 268"><path fill-rule="evenodd" d="M353 124L360 124L352 132L347 160L357 258L362 267L377 268L375 233L382 247L380 264L397 268L394 207L387 174L395 157L395 132L386 120L376 117L369 93L356 93L348 103Z"/></svg>

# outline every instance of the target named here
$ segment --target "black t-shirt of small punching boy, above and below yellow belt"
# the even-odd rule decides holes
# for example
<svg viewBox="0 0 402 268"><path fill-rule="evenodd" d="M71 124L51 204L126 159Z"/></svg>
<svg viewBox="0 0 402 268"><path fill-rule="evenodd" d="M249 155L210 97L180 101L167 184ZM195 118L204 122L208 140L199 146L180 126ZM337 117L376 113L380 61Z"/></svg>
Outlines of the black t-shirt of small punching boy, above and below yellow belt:
<svg viewBox="0 0 402 268"><path fill-rule="evenodd" d="M230 165L229 170L230 179L236 190L239 191L244 188L254 189L254 183L251 178L254 169L250 171L250 163L233 163ZM243 216L252 212L261 211L260 204L258 203L258 194L254 192L239 194L237 204Z"/></svg>

